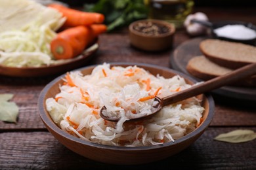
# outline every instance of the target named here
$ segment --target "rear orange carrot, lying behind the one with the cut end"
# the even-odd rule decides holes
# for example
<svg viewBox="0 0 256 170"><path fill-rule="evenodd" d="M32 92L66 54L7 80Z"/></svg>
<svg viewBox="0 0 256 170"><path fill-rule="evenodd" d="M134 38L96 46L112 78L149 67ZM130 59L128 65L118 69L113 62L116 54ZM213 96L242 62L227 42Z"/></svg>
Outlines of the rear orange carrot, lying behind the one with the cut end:
<svg viewBox="0 0 256 170"><path fill-rule="evenodd" d="M64 27L75 27L79 25L102 24L104 22L104 15L97 12L83 12L80 10L70 9L59 4L48 5L53 9L58 10L66 17Z"/></svg>

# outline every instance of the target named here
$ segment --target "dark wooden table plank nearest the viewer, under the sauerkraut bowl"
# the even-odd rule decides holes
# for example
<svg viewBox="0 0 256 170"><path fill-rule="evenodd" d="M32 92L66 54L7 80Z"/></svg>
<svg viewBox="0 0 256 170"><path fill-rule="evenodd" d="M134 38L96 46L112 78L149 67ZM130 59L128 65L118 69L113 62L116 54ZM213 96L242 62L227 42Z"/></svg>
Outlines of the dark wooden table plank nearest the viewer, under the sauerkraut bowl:
<svg viewBox="0 0 256 170"><path fill-rule="evenodd" d="M194 144L181 153L154 163L125 165L125 169L255 169L256 142L223 143L213 140L220 133L244 127L211 127ZM256 131L256 127L251 128ZM48 132L0 133L1 169L116 169L91 161L68 150ZM86 150L85 150L86 152Z"/></svg>

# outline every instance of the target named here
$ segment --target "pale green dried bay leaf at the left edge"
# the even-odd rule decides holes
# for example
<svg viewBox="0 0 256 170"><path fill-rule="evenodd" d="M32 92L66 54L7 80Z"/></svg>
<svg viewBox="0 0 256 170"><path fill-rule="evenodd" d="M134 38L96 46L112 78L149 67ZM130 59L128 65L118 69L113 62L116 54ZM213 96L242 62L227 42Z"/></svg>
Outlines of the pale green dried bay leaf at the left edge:
<svg viewBox="0 0 256 170"><path fill-rule="evenodd" d="M5 122L16 122L18 116L18 106L16 103L9 101L13 94L0 94L0 120Z"/></svg>

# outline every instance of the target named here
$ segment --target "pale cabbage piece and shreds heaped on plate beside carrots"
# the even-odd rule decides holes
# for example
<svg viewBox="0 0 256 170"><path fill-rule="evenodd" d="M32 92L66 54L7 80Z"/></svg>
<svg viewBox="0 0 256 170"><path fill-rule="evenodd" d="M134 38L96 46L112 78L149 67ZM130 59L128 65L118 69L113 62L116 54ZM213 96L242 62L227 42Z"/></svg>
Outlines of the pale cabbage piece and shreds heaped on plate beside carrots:
<svg viewBox="0 0 256 170"><path fill-rule="evenodd" d="M11 12L0 16L0 64L40 67L54 63L50 44L66 18L57 10L28 0L5 0L2 8ZM0 7L0 11L5 9Z"/></svg>

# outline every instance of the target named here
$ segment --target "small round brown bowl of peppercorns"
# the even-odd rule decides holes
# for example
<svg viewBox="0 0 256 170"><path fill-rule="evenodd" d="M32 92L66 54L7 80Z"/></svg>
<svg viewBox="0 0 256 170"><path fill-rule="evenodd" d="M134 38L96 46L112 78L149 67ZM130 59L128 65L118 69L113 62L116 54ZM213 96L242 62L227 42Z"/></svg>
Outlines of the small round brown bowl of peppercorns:
<svg viewBox="0 0 256 170"><path fill-rule="evenodd" d="M148 23L158 25L160 33L152 33L156 27L152 28L146 25ZM141 28L144 26L147 29ZM175 25L161 20L138 20L129 25L131 45L140 50L161 51L172 48L174 35Z"/></svg>

